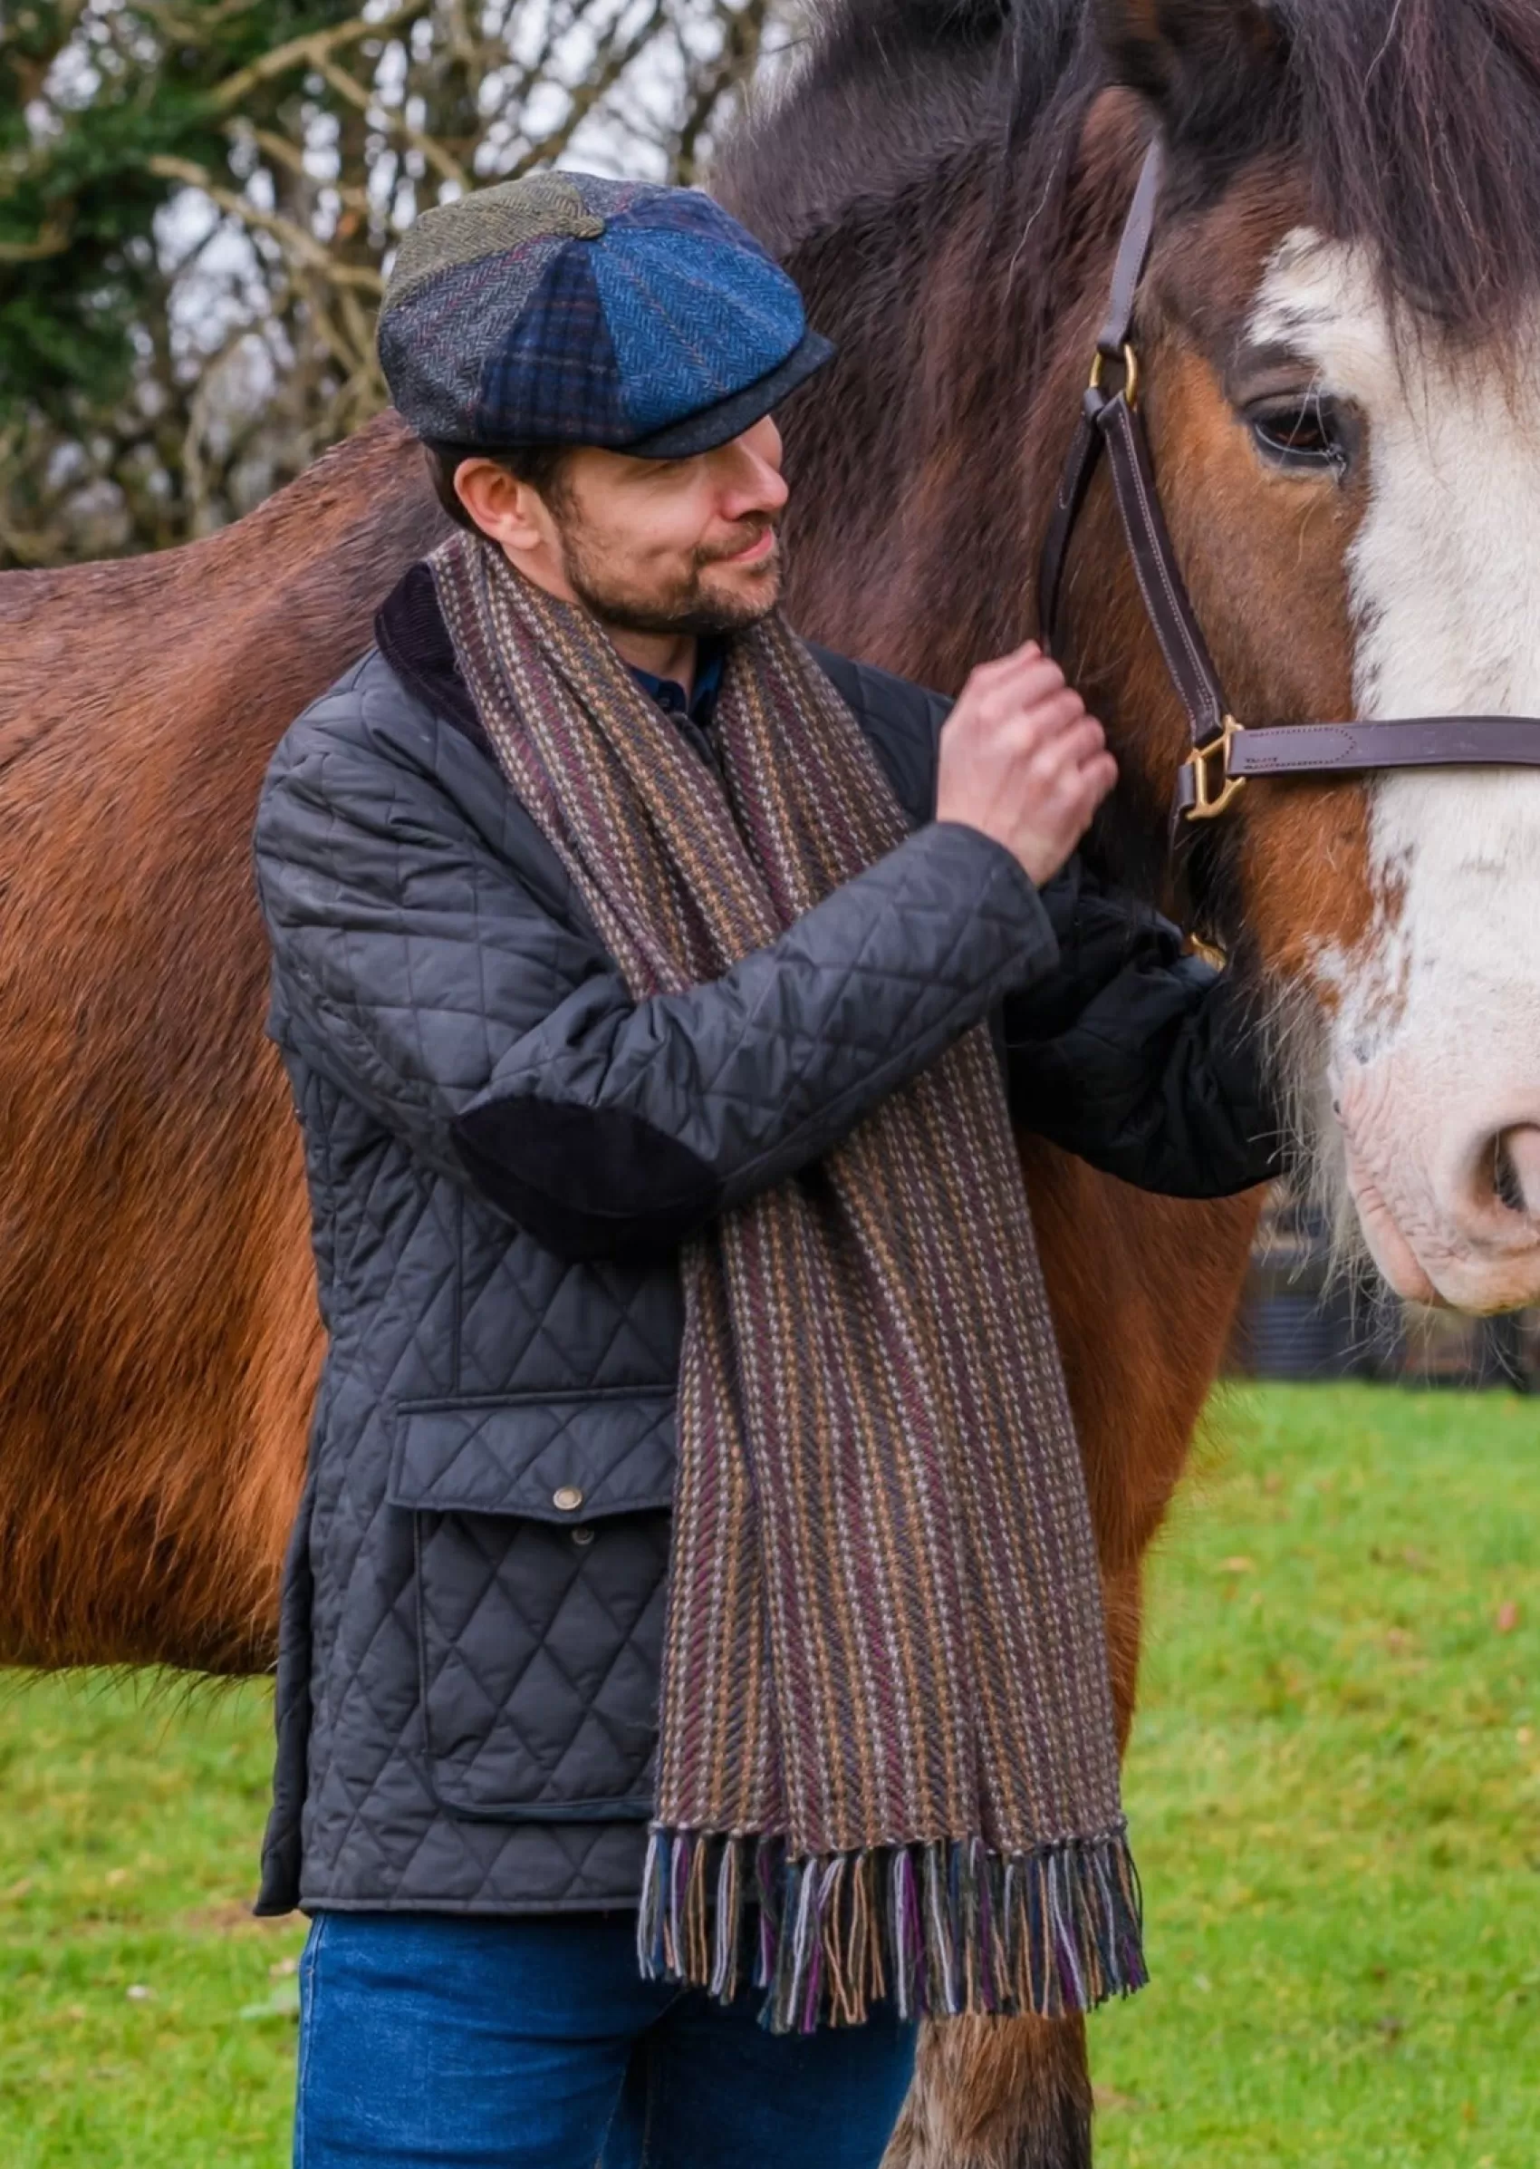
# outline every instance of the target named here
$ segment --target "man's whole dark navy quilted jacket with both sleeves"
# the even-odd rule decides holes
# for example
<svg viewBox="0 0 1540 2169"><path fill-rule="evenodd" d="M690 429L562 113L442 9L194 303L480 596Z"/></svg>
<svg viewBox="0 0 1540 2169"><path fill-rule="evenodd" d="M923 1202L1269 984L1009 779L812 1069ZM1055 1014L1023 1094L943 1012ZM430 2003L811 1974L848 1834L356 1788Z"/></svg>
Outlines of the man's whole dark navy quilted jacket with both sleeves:
<svg viewBox="0 0 1540 2169"><path fill-rule="evenodd" d="M636 1004L423 568L377 633L282 740L256 824L328 1327L258 1911L627 1904L681 1238L980 1019L1017 1113L1130 1180L1241 1189L1273 1121L1169 926L1074 868L1039 896L931 820L937 696L822 657L915 833L727 978Z"/></svg>

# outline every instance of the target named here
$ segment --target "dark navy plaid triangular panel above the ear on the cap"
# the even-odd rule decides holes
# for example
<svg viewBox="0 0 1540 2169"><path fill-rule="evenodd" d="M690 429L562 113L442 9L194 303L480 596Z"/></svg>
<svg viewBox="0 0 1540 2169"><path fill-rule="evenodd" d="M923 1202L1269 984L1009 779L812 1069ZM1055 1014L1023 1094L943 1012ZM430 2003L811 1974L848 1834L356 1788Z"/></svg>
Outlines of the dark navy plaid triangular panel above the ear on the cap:
<svg viewBox="0 0 1540 2169"><path fill-rule="evenodd" d="M590 243L568 243L512 336L482 351L477 442L625 445L636 436Z"/></svg>

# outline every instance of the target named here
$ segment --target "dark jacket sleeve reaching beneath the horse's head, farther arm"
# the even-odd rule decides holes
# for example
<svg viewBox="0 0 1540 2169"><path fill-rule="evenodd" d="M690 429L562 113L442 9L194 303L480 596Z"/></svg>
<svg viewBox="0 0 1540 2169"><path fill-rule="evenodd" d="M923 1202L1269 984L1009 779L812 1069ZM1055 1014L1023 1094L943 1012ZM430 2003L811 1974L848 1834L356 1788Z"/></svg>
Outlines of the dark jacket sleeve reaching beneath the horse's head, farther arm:
<svg viewBox="0 0 1540 2169"><path fill-rule="evenodd" d="M1284 1126L1230 974L1080 865L1045 900L1058 967L1004 1004L1015 1119L1169 1197L1230 1197L1275 1176Z"/></svg>

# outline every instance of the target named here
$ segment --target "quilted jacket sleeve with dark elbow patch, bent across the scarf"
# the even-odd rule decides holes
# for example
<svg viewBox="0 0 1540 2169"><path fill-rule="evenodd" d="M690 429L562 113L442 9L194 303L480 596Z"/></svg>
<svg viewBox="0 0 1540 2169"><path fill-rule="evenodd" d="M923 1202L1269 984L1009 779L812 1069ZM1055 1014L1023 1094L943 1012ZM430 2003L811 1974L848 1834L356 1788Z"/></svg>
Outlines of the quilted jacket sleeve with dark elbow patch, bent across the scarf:
<svg viewBox="0 0 1540 2169"><path fill-rule="evenodd" d="M434 774L315 724L273 759L256 868L280 1043L573 1258L666 1252L807 1167L1058 954L1017 861L931 824L722 978L633 1002Z"/></svg>

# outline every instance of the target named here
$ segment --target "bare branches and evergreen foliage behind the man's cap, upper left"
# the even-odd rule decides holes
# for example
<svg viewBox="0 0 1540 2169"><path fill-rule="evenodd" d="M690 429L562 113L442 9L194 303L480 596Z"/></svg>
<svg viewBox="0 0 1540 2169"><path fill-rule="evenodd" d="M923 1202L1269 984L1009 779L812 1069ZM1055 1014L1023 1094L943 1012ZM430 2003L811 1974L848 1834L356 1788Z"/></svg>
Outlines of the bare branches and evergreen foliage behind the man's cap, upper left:
<svg viewBox="0 0 1540 2169"><path fill-rule="evenodd" d="M384 399L427 202L696 180L774 0L0 0L0 566L236 518Z"/></svg>

